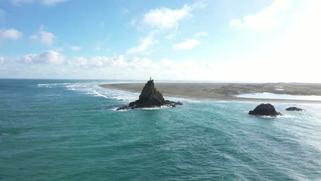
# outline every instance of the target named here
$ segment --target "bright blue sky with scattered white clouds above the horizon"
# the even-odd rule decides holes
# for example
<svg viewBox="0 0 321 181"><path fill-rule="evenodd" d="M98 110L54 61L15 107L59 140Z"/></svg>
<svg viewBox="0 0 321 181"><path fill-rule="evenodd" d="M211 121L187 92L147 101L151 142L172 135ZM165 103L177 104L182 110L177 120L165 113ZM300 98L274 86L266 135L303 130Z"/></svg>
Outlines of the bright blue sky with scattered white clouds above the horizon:
<svg viewBox="0 0 321 181"><path fill-rule="evenodd" d="M0 0L0 78L321 82L319 0Z"/></svg>

